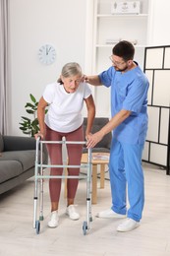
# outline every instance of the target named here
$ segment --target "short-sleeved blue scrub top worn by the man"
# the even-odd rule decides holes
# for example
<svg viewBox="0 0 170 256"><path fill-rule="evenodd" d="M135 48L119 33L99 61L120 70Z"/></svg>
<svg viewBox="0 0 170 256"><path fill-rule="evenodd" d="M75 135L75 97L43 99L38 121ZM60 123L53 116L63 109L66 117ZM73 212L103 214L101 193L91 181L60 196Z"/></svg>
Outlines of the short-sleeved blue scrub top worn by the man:
<svg viewBox="0 0 170 256"><path fill-rule="evenodd" d="M138 64L138 63L136 63ZM112 117L121 109L131 115L113 131L113 138L122 143L143 144L147 131L148 80L141 68L121 73L114 67L99 74L101 83L111 87Z"/></svg>

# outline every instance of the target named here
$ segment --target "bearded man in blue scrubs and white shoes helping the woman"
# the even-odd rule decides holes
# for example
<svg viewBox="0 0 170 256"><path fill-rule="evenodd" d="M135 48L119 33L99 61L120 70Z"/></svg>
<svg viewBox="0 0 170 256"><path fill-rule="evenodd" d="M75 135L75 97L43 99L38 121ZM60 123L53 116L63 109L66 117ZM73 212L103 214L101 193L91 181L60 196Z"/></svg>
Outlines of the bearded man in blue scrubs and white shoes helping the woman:
<svg viewBox="0 0 170 256"><path fill-rule="evenodd" d="M147 131L148 80L134 55L134 45L122 40L112 49L108 70L85 76L90 85L111 88L112 117L98 132L88 135L87 148L93 148L113 131L109 161L112 206L97 217L126 218L117 227L122 232L140 225L144 205L142 150Z"/></svg>

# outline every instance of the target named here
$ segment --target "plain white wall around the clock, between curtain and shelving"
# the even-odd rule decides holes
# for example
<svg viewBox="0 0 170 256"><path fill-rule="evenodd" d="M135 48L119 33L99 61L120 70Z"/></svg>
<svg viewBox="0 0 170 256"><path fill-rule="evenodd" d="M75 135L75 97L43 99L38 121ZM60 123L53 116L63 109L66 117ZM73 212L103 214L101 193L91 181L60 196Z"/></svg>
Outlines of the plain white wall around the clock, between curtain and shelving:
<svg viewBox="0 0 170 256"><path fill-rule="evenodd" d="M47 83L55 81L62 66L70 61L85 68L85 0L10 0L11 41L11 134L19 129L25 104L31 93L37 99ZM56 61L43 65L38 49L50 43L56 48Z"/></svg>

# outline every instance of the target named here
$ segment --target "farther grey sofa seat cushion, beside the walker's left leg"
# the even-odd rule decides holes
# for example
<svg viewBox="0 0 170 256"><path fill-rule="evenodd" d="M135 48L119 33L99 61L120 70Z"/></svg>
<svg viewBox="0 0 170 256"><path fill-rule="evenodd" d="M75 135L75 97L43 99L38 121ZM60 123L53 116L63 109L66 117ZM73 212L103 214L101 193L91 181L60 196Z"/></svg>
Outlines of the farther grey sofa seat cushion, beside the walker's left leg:
<svg viewBox="0 0 170 256"><path fill-rule="evenodd" d="M11 151L2 152L1 160L18 160L23 167L23 171L28 170L34 166L35 151Z"/></svg>

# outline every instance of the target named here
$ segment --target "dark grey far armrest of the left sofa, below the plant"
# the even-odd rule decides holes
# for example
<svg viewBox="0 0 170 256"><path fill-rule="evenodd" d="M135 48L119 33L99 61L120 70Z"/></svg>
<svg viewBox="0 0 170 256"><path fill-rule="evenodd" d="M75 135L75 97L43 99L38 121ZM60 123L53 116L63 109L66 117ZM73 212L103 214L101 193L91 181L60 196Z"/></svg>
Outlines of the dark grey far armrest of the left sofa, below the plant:
<svg viewBox="0 0 170 256"><path fill-rule="evenodd" d="M24 136L3 136L4 151L27 151L35 150L35 139Z"/></svg>

